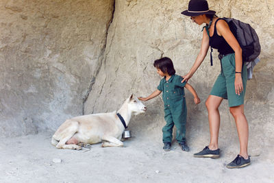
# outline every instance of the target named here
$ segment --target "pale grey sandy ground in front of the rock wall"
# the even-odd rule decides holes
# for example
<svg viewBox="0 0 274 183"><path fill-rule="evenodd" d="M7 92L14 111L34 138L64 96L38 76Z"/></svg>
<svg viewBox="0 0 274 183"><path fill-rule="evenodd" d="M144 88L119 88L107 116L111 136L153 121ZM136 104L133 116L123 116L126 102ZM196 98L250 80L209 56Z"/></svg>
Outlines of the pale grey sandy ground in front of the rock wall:
<svg viewBox="0 0 274 183"><path fill-rule="evenodd" d="M200 149L183 152L177 143L164 152L161 143L133 137L125 147L75 151L56 149L50 140L49 133L3 138L0 182L274 182L274 164L260 156L244 169L227 169L234 156L194 158Z"/></svg>

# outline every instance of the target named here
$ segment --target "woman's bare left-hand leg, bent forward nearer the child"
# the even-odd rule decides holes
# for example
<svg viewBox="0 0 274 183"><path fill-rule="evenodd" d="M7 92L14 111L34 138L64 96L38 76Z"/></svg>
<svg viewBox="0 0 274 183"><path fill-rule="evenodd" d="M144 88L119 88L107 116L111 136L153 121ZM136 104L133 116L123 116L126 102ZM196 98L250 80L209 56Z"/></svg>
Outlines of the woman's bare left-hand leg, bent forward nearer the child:
<svg viewBox="0 0 274 183"><path fill-rule="evenodd" d="M208 108L208 122L210 124L210 150L218 149L218 137L220 127L219 106L223 101L222 97L210 95L206 100L206 108Z"/></svg>

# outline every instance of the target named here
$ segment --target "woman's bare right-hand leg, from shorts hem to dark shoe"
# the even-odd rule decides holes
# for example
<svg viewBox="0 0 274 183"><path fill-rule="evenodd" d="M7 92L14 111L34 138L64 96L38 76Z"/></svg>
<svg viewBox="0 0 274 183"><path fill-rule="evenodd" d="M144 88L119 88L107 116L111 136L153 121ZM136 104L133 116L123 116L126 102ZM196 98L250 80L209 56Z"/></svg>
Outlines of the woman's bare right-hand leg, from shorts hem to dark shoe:
<svg viewBox="0 0 274 183"><path fill-rule="evenodd" d="M245 117L244 113L244 105L231 107L229 108L230 113L234 117L237 132L238 132L238 138L240 141L240 156L247 159L248 153L247 153L247 145L248 145L248 137L249 137L249 127L247 123L247 119Z"/></svg>

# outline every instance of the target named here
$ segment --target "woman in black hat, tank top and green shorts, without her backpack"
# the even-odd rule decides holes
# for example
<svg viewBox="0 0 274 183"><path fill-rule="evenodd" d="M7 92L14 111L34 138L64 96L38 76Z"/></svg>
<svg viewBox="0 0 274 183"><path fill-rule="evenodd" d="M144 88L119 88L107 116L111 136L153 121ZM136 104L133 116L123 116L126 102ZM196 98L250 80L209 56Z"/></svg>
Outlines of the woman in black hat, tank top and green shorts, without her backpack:
<svg viewBox="0 0 274 183"><path fill-rule="evenodd" d="M203 29L203 39L199 54L182 82L185 80L188 81L195 71L197 71L201 62L203 62L206 57L210 46L218 49L219 58L221 59L221 73L217 77L206 101L208 121L210 124L210 144L199 153L194 154L194 156L219 158L219 106L223 99L228 99L229 111L234 117L238 131L240 153L232 162L227 164L227 168L246 167L250 164L250 158L247 153L249 130L244 113L247 67L245 64L242 64L242 49L234 37L234 34L232 34L225 20L219 19L215 13L216 12L209 10L206 0L190 0L188 10L182 12L182 14L190 16L190 19L198 25L203 23L207 25L206 29Z"/></svg>

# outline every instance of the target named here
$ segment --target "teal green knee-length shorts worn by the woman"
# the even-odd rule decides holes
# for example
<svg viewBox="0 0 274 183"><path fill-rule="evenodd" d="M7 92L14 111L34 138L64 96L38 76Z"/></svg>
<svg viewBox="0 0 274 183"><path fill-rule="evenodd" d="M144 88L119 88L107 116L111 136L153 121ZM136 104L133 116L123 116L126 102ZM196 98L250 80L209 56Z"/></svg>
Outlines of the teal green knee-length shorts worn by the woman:
<svg viewBox="0 0 274 183"><path fill-rule="evenodd" d="M244 90L240 95L235 92L235 53L228 54L221 60L221 73L214 83L210 95L228 99L229 107L240 106L245 101L245 88L247 86L247 66L242 67L242 85Z"/></svg>

